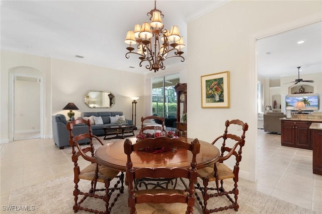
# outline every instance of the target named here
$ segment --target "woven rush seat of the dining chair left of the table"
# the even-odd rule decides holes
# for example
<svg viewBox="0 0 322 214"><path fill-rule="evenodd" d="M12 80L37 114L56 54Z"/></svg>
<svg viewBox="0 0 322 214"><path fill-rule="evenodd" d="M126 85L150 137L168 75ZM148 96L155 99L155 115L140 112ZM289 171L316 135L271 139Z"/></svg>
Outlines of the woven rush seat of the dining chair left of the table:
<svg viewBox="0 0 322 214"><path fill-rule="evenodd" d="M94 180L95 168L96 163L92 163L85 167L83 170L81 170L81 173L79 173L79 179ZM97 178L97 181L104 183L105 179L110 178L112 180L117 176L118 173L119 171L115 171L105 166L99 166L99 177Z"/></svg>

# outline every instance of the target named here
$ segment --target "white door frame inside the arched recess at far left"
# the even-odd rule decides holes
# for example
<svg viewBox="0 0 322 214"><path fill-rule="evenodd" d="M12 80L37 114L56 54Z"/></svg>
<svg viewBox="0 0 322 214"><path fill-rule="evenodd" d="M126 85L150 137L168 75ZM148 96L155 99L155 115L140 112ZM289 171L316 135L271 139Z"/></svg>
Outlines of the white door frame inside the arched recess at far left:
<svg viewBox="0 0 322 214"><path fill-rule="evenodd" d="M31 78L39 78L40 79L40 138L44 138L44 124L45 124L45 117L44 117L44 76L37 75L37 74L26 74L26 73L19 73L19 72L10 72L9 75L9 141L14 140L14 131L15 131L15 97L14 97L14 90L15 90L15 77L16 76L23 76L23 77L31 77Z"/></svg>

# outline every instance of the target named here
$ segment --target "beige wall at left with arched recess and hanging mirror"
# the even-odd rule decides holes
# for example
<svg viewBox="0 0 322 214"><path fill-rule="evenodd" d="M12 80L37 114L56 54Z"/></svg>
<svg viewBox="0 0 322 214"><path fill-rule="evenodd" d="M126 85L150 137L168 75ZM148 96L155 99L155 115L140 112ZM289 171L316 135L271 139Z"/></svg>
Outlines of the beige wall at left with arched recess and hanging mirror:
<svg viewBox="0 0 322 214"><path fill-rule="evenodd" d="M122 111L126 118L131 119L132 100L129 97L140 96L137 119L144 115L143 74L2 50L0 143L9 142L9 70L20 66L34 68L44 75L45 118L42 138L52 136L51 115L64 114L67 117L68 111L62 108L70 101L79 109L74 111L75 117L79 117L81 112ZM84 103L84 94L91 89L112 91L116 104L109 109L90 109Z"/></svg>

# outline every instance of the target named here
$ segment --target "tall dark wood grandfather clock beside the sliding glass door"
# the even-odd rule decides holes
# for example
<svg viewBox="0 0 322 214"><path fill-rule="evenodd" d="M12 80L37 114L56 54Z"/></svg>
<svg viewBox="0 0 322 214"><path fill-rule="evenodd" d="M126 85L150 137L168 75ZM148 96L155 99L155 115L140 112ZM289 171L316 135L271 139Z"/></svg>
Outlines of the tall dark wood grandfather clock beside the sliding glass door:
<svg viewBox="0 0 322 214"><path fill-rule="evenodd" d="M175 85L177 93L177 135L187 137L187 83Z"/></svg>

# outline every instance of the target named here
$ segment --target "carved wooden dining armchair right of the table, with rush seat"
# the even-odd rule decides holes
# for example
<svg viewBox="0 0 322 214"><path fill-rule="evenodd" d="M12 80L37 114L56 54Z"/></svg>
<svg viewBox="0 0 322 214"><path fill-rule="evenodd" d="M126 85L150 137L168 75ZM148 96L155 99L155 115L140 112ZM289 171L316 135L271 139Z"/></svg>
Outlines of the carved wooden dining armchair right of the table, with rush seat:
<svg viewBox="0 0 322 214"><path fill-rule="evenodd" d="M228 127L230 131L231 130L242 131L241 135L237 136L235 134L228 133ZM197 183L195 188L201 191L201 194L203 197L203 203L200 197L198 196L197 192L195 192L195 195L197 200L199 201L199 204L203 209L204 214L208 214L216 211L222 211L228 208L233 208L235 211L238 210L239 205L237 203L237 198L238 198L237 182L238 182L239 162L241 161L241 149L245 145L245 133L247 130L248 130L247 123L244 123L243 121L240 121L240 120L231 120L231 121L227 120L225 122L224 134L217 137L212 142L212 144L215 144L216 142L222 142L219 160L209 167L198 169L198 176L203 180L203 186ZM233 166L233 170L224 164L224 161L230 158L232 159L232 157L235 157L235 165ZM234 183L233 183L232 190L226 191L223 187L223 180L229 179L229 178L232 178ZM208 186L209 182L212 182L212 181L215 181L216 188ZM220 186L219 186L219 181L220 181ZM229 183L227 185L227 182L226 182L225 187L227 186L229 186ZM229 194L233 194L234 199L230 197ZM209 204L208 199L212 197L216 198L218 196L226 196L231 202L231 204L229 203L230 205L224 205L217 208L208 209L207 208L207 204ZM217 203L218 203L217 200L212 200L212 204L217 205Z"/></svg>

